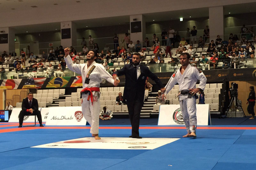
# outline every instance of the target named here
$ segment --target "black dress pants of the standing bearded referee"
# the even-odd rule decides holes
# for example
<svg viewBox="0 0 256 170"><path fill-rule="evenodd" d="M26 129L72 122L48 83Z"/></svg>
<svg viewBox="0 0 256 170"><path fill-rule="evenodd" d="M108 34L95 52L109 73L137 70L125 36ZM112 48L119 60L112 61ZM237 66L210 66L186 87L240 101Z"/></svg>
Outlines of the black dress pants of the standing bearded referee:
<svg viewBox="0 0 256 170"><path fill-rule="evenodd" d="M138 137L140 127L140 111L143 106L143 100L135 98L135 100L126 101L126 103L132 125L132 137Z"/></svg>

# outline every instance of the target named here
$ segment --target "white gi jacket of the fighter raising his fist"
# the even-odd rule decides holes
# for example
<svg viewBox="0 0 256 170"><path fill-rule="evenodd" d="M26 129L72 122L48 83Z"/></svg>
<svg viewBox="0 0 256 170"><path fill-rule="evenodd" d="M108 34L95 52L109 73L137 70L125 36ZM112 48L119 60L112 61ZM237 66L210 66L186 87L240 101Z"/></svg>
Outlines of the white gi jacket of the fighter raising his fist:
<svg viewBox="0 0 256 170"><path fill-rule="evenodd" d="M87 63L86 64L73 64L72 59L70 55L68 55L66 58L64 57L66 64L68 68L76 72L78 74L82 75L82 81L83 81L83 88L92 88L92 87L100 87L100 82L102 81L102 78L106 79L111 84L114 84L114 79L112 76L106 71L104 66L102 64L98 64L95 61L90 65L90 67L87 69ZM89 70L92 68L92 66L96 66L92 73L89 76L89 83L85 84L86 75L89 72Z"/></svg>

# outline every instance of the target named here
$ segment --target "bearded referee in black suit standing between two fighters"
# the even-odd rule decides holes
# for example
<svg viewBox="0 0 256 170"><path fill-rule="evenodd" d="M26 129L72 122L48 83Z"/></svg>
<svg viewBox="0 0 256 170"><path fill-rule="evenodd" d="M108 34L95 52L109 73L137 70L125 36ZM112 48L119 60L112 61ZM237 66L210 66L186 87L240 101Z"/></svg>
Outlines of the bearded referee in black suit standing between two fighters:
<svg viewBox="0 0 256 170"><path fill-rule="evenodd" d="M118 76L125 75L124 98L128 107L130 121L132 124L132 138L142 138L139 135L140 111L144 102L145 81L150 77L161 88L165 90L164 85L159 78L153 74L147 66L140 64L141 57L139 53L132 56L132 64L126 64L124 67L113 74L115 85L118 85ZM117 79L117 80L116 80Z"/></svg>

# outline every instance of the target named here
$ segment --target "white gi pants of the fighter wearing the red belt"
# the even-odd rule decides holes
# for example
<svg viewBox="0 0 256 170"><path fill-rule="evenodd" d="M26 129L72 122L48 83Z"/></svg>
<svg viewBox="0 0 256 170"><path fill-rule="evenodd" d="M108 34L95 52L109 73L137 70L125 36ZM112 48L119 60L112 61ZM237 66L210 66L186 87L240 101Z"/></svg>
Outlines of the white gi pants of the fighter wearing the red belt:
<svg viewBox="0 0 256 170"><path fill-rule="evenodd" d="M94 94L93 105L91 98L89 101L87 100L89 93L82 95L82 113L86 121L91 125L90 133L98 134L100 121L100 99L98 98L97 92L92 92L92 94Z"/></svg>

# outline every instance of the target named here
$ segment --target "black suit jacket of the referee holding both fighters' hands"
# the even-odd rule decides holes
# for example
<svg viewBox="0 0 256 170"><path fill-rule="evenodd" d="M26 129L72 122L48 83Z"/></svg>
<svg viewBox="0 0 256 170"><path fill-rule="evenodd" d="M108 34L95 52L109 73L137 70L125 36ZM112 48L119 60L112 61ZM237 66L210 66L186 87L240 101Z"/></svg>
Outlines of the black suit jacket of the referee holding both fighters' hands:
<svg viewBox="0 0 256 170"><path fill-rule="evenodd" d="M164 87L159 78L153 74L147 66L140 64L140 72L141 74L137 79L137 71L135 70L133 64L126 64L122 69L114 72L114 74L117 76L125 75L124 98L127 102L135 100L135 98L138 98L143 102L147 77L154 80L160 88Z"/></svg>

